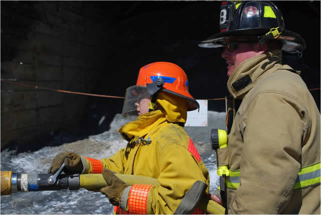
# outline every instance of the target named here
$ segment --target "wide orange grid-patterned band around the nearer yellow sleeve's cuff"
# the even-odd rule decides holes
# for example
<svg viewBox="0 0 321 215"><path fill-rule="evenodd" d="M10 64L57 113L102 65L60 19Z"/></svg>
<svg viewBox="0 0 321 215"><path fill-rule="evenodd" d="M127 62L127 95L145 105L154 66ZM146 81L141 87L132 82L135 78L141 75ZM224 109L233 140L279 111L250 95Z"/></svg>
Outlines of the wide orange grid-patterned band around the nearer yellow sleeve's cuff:
<svg viewBox="0 0 321 215"><path fill-rule="evenodd" d="M149 184L134 184L131 186L128 196L128 211L136 214L147 213L147 197Z"/></svg>

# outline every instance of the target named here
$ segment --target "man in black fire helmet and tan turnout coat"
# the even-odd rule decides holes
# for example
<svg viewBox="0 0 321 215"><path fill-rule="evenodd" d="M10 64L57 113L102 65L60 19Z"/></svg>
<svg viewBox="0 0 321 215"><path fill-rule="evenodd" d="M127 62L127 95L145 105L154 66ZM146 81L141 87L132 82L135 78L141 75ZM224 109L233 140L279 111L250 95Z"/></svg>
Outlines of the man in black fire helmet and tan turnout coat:
<svg viewBox="0 0 321 215"><path fill-rule="evenodd" d="M228 213L320 214L320 113L282 51L302 57L269 1L223 1L220 32L200 47L225 47L229 172L212 199Z"/></svg>

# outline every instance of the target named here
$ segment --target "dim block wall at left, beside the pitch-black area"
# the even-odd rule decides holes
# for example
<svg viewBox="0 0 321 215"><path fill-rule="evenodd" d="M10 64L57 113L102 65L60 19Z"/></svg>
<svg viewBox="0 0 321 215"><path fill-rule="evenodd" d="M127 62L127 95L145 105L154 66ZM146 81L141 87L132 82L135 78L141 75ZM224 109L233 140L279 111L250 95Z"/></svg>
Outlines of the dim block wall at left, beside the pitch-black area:
<svg viewBox="0 0 321 215"><path fill-rule="evenodd" d="M93 91L108 38L105 11L82 1L1 1L1 78ZM106 16L105 16L106 17ZM1 149L76 127L88 96L1 83Z"/></svg>

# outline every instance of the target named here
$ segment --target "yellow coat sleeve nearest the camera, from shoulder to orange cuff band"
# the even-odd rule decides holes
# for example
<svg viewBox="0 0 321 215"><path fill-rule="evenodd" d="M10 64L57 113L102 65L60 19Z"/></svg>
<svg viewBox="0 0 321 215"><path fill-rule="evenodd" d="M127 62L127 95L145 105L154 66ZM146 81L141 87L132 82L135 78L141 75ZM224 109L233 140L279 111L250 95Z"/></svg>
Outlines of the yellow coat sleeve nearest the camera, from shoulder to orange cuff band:
<svg viewBox="0 0 321 215"><path fill-rule="evenodd" d="M205 178L197 164L198 161L186 148L177 143L165 145L159 153L158 162L161 173L157 179L161 185L151 187L147 213L173 214L196 181L209 184L209 179ZM208 190L209 187L207 193Z"/></svg>

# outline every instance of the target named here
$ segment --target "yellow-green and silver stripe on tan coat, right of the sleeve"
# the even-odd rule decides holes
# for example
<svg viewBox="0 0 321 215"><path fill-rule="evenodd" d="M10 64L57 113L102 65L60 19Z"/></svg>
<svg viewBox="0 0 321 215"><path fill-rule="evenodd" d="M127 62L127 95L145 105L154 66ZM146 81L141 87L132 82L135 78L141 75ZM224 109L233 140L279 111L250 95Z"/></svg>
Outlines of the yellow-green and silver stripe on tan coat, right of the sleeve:
<svg viewBox="0 0 321 215"><path fill-rule="evenodd" d="M304 166L298 172L293 189L320 183L320 162Z"/></svg>

